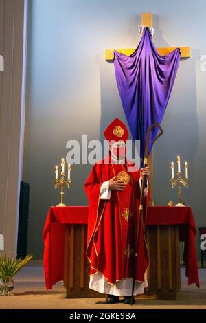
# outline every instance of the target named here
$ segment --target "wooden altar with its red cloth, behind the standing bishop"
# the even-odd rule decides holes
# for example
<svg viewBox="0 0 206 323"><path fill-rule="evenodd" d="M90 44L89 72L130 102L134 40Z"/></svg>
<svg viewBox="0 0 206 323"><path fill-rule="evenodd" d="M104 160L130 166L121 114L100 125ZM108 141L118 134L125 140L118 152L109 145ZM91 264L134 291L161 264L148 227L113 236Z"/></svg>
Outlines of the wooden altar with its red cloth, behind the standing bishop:
<svg viewBox="0 0 206 323"><path fill-rule="evenodd" d="M43 240L47 289L64 280L67 298L104 296L89 289L87 206L49 209ZM183 261L188 284L198 280L195 251L196 226L189 207L148 207L146 240L150 255L146 295L176 299L181 289L179 242L184 242Z"/></svg>

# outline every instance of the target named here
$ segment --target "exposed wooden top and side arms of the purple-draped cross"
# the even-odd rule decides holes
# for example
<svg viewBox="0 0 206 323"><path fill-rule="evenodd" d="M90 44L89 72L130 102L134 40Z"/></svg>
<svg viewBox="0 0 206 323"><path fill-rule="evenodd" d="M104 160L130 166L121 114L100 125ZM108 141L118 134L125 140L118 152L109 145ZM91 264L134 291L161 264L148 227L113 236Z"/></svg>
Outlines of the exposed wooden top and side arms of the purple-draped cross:
<svg viewBox="0 0 206 323"><path fill-rule="evenodd" d="M152 27L152 12L148 13L143 13L141 15L141 25L144 25L146 27ZM181 58L189 58L190 57L190 47L180 47L181 51ZM159 47L157 48L157 52L159 52L160 55L167 55L170 52L172 52L176 47ZM125 55L130 55L135 52L135 48L129 48L129 49L115 49L117 52L125 54ZM114 49L106 49L105 50L105 60L113 60L114 59L114 54L113 54Z"/></svg>

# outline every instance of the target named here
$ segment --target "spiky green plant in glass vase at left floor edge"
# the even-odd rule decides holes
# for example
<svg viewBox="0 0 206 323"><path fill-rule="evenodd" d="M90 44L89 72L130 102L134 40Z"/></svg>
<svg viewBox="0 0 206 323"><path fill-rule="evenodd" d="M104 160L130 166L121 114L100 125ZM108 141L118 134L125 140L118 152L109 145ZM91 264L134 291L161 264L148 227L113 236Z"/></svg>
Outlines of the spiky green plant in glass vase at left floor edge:
<svg viewBox="0 0 206 323"><path fill-rule="evenodd" d="M16 259L9 254L0 254L0 296L7 296L14 289L14 275L32 259L27 255Z"/></svg>

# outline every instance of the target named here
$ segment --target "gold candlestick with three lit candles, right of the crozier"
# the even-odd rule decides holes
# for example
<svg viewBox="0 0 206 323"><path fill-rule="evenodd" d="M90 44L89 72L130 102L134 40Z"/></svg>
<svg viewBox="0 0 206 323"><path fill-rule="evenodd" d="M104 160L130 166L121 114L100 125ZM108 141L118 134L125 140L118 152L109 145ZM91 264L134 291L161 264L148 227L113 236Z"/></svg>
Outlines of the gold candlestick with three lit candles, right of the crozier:
<svg viewBox="0 0 206 323"><path fill-rule="evenodd" d="M182 202L182 188L181 186L185 186L188 188L189 186L189 178L188 178L188 164L187 162L185 163L185 179L182 179L181 177L181 166L180 166L180 157L177 157L177 163L178 163L178 171L176 172L177 174L177 179L172 176L171 182L172 182L172 188L174 188L176 185L178 185L178 199L179 203L176 204L176 206L185 206L185 204ZM174 168L174 163L171 163L171 168Z"/></svg>

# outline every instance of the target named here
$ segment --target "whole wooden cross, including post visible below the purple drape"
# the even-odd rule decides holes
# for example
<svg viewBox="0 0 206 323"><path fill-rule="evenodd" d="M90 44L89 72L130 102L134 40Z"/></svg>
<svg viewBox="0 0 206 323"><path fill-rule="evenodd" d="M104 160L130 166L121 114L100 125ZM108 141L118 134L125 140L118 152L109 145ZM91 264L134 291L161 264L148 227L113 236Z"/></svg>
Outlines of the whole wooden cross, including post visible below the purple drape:
<svg viewBox="0 0 206 323"><path fill-rule="evenodd" d="M141 14L141 25L144 27L152 27L152 12L146 12ZM181 58L190 58L190 47L182 47L182 46L176 46L176 47L159 47L157 48L157 52L159 52L160 55L167 55L170 52L172 52L174 49L179 48L181 51ZM135 52L135 48L128 48L128 49L106 49L105 50L105 60L114 60L114 50L117 52L120 52L125 55L130 55ZM150 205L154 205L153 200L153 163L152 163L152 152L150 153L150 156L148 158L148 166L150 166Z"/></svg>

